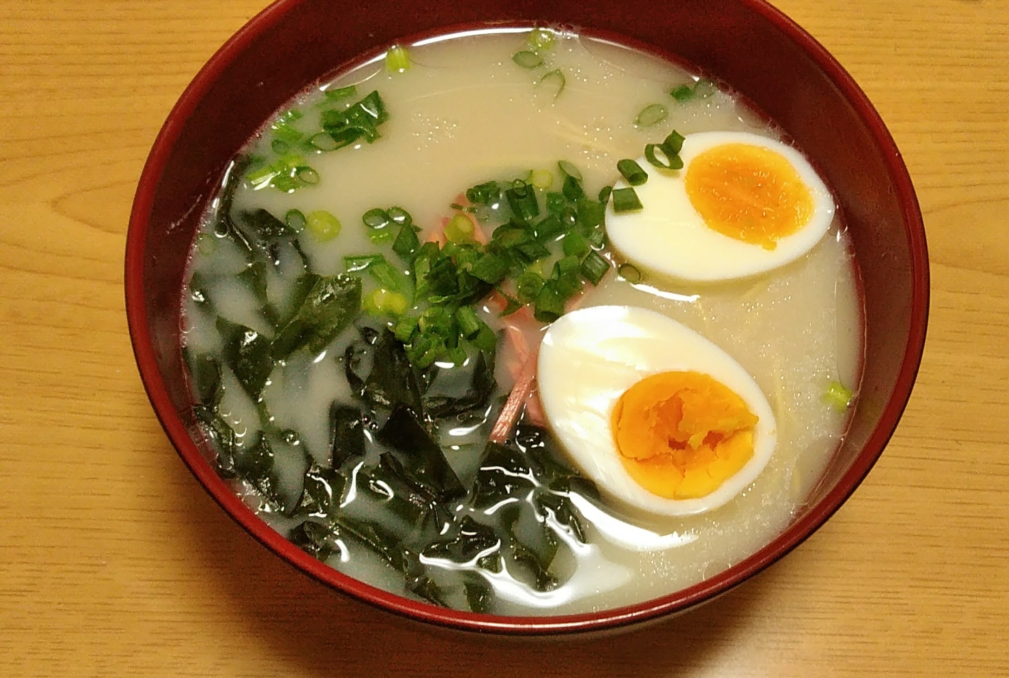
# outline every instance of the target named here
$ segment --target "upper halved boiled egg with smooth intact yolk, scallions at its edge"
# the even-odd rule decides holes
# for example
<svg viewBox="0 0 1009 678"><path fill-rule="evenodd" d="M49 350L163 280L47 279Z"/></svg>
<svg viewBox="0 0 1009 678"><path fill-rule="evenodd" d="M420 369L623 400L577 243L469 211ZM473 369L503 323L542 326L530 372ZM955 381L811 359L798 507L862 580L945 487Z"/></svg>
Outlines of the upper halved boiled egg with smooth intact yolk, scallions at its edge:
<svg viewBox="0 0 1009 678"><path fill-rule="evenodd" d="M606 215L606 232L627 259L672 277L746 277L799 258L826 233L835 206L795 148L747 132L689 134L683 168L638 164L643 209ZM619 182L615 188L627 188Z"/></svg>

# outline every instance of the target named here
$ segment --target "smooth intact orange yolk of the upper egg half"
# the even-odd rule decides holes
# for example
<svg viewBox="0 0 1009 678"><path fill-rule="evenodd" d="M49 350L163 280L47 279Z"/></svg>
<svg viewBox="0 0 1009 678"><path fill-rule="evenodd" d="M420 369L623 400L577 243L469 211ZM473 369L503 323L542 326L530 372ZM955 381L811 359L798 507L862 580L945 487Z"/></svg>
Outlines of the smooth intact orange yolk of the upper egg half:
<svg viewBox="0 0 1009 678"><path fill-rule="evenodd" d="M765 249L799 230L813 198L780 153L747 143L724 143L691 160L684 185L704 223L722 235Z"/></svg>

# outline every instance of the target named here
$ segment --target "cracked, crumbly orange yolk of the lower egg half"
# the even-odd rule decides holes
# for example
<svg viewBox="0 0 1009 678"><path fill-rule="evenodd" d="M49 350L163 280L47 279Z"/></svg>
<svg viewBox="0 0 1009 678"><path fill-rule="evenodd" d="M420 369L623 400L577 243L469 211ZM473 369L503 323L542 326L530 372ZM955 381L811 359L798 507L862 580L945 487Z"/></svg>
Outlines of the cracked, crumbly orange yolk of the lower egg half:
<svg viewBox="0 0 1009 678"><path fill-rule="evenodd" d="M736 391L700 372L645 377L610 418L624 468L669 499L704 496L735 475L754 455L756 424Z"/></svg>

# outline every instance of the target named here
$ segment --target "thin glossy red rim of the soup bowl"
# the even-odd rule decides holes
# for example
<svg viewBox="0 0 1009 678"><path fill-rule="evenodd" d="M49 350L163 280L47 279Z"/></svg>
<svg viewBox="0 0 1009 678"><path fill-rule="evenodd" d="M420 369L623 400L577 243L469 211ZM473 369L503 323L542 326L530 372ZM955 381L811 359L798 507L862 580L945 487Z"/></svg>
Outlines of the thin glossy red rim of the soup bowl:
<svg viewBox="0 0 1009 678"><path fill-rule="evenodd" d="M897 192L909 242L911 321L893 391L862 451L836 485L803 517L762 549L697 584L640 603L597 612L557 616L507 616L438 607L386 592L344 575L308 555L248 508L214 472L176 412L157 367L143 293L144 247L149 217L161 173L186 120L218 76L239 52L277 23L303 0L276 0L235 32L201 68L165 119L147 156L137 185L126 237L124 286L126 315L133 353L147 397L161 427L183 462L217 503L256 541L314 579L358 600L420 622L470 632L513 636L584 633L626 627L684 611L724 593L777 562L813 534L839 508L879 459L907 406L924 350L929 306L929 271L924 223L910 176L900 151L869 98L840 64L808 32L765 0L736 0L763 15L793 40L838 88L883 151L883 161ZM445 32L450 27L446 26ZM626 40L634 43L634 40ZM647 46L647 45L646 45ZM654 50L654 47L653 47ZM355 60L356 61L356 60Z"/></svg>

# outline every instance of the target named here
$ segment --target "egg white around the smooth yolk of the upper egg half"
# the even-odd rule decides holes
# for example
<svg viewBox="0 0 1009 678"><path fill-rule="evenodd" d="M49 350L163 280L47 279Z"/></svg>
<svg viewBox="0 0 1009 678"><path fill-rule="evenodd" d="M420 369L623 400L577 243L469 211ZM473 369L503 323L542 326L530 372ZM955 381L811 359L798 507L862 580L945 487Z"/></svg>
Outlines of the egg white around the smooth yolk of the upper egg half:
<svg viewBox="0 0 1009 678"><path fill-rule="evenodd" d="M737 240L709 228L687 196L684 178L690 162L703 151L724 143L762 146L782 155L802 179L812 196L813 213L799 230L778 239L774 249ZM648 181L634 187L644 209L616 214L610 203L606 232L612 246L628 260L670 277L698 282L748 277L799 258L819 242L835 206L816 172L795 148L748 132L689 134L680 151L683 168L660 171L644 157L638 164ZM627 188L618 182L614 188Z"/></svg>

